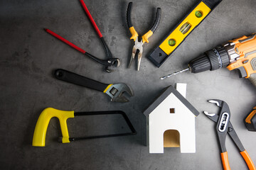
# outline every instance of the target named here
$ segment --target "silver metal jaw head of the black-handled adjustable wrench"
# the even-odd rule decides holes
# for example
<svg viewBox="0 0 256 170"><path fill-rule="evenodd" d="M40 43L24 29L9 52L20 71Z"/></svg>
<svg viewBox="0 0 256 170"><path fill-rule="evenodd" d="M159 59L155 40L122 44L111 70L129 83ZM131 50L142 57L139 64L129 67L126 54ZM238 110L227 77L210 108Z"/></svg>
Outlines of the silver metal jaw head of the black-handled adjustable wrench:
<svg viewBox="0 0 256 170"><path fill-rule="evenodd" d="M132 89L127 86L127 84L112 84L109 89L105 92L111 97L111 101L116 102L127 102L129 101L123 94L127 96L134 96Z"/></svg>

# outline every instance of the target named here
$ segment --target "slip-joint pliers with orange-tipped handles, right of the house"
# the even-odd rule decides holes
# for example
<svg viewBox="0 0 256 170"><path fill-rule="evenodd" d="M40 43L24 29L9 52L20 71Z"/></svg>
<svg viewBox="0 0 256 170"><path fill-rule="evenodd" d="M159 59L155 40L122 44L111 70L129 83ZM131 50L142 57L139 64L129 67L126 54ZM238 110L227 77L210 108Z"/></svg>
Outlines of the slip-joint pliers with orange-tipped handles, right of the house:
<svg viewBox="0 0 256 170"><path fill-rule="evenodd" d="M211 99L208 102L215 103L218 107L220 107L219 114L208 113L207 111L204 111L204 113L207 115L208 118L210 118L210 120L213 120L215 123L217 123L216 130L220 143L220 156L223 163L223 169L230 169L230 164L228 162L228 152L225 147L225 139L228 133L233 142L235 142L235 145L238 147L240 154L242 155L243 159L245 159L245 162L249 169L255 170L255 165L253 164L252 159L250 159L249 154L242 146L242 142L239 140L239 137L236 134L233 125L230 123L230 109L228 107L228 104L225 103L225 101L220 101L218 99Z"/></svg>

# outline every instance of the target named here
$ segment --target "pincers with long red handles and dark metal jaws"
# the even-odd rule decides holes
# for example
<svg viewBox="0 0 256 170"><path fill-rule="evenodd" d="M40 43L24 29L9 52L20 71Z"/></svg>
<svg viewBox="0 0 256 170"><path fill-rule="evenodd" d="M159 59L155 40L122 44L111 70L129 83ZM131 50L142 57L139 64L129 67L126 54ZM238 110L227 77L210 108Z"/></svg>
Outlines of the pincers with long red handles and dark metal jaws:
<svg viewBox="0 0 256 170"><path fill-rule="evenodd" d="M103 64L105 66L105 71L106 72L113 72L114 70L110 69L110 67L112 67L112 66L119 67L120 60L118 58L114 58L112 56L110 48L107 46L107 43L105 42L105 40L102 36L102 33L100 33L99 28L97 28L97 25L96 25L95 21L93 20L87 6L85 5L85 2L83 0L80 0L80 3L82 4L82 8L84 8L87 17L90 19L90 22L92 23L92 26L95 28L95 31L97 32L97 35L99 35L100 41L102 42L102 45L103 45L104 50L105 50L107 60L101 60L101 59L91 55L89 52L85 52L85 50L82 50L80 47L74 45L72 42L69 42L68 40L65 40L65 38L62 38L60 35L58 35L56 33L53 33L53 31L51 31L49 29L45 28L45 30L46 30L47 33L50 33L50 35L53 35L55 38L58 38L59 40L65 42L66 44L75 48L75 50L78 50L79 52L82 52L82 54L86 55L87 57L90 57L92 60L95 60L96 62L98 62L100 64Z"/></svg>

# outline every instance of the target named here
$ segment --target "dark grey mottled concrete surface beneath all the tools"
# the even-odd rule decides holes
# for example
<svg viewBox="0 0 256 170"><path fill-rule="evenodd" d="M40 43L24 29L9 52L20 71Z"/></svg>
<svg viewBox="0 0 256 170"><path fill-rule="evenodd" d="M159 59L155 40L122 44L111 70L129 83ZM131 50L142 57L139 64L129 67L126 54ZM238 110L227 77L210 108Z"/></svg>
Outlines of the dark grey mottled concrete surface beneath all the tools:
<svg viewBox="0 0 256 170"><path fill-rule="evenodd" d="M186 38L160 68L146 55L166 36L193 4L194 0L134 1L132 19L142 34L154 21L161 7L159 28L144 45L139 72L127 69L132 42L126 23L129 1L85 1L114 57L121 66L111 74L60 40L46 33L49 28L91 54L105 58L104 50L80 2L75 1L0 1L0 169L222 169L214 123L202 111L217 112L207 102L219 98L230 106L231 122L242 144L256 164L256 133L243 124L255 106L256 91L238 72L184 72L169 79L159 77L186 67L202 52L216 45L256 31L255 0L224 0ZM129 84L135 96L129 103L112 103L105 94L59 81L55 69L71 72L104 83ZM196 154L181 154L179 148L164 149L164 154L149 154L144 146L146 124L142 111L164 87L186 83L187 99L198 111ZM61 144L58 119L50 120L46 147L32 147L33 130L41 111L53 107L73 111L122 110L129 116L137 135L83 140ZM71 137L107 134L127 130L114 117L76 117L68 120ZM231 169L247 169L230 137L226 141Z"/></svg>

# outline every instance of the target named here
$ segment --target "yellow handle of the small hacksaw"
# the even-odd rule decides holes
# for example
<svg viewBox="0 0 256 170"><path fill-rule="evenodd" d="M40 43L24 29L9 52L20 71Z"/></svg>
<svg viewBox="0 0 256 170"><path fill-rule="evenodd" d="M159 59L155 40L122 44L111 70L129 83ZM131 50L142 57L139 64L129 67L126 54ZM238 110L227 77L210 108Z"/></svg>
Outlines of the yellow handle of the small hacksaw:
<svg viewBox="0 0 256 170"><path fill-rule="evenodd" d="M36 128L33 134L33 147L45 147L46 146L46 131L50 119L57 117L60 120L60 129L63 135L62 142L69 143L67 119L74 118L74 111L60 111L55 108L45 108L39 115L36 123Z"/></svg>

